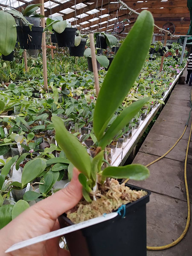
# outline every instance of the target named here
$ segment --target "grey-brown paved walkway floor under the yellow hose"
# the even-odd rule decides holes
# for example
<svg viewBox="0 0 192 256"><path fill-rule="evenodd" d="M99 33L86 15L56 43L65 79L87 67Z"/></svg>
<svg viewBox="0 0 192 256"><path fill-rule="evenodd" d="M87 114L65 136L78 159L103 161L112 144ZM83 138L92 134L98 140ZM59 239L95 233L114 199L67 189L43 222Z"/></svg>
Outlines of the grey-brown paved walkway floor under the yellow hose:
<svg viewBox="0 0 192 256"><path fill-rule="evenodd" d="M186 75L186 73L184 73ZM148 164L163 155L183 133L189 115L188 84L177 84L145 139L133 163ZM192 117L191 117L192 119ZM128 183L151 190L147 204L147 245L162 246L175 241L183 232L187 204L184 186L184 160L191 120L183 139L162 160L149 167L147 180ZM192 144L189 148L187 176L192 202ZM192 226L185 238L168 250L148 251L147 256L191 256Z"/></svg>

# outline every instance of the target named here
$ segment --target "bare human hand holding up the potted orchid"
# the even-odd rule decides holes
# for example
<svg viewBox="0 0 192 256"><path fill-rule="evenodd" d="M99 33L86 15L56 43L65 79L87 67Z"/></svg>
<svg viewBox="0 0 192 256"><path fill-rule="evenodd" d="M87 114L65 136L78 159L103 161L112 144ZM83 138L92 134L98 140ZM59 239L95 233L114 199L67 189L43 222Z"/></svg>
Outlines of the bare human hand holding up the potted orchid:
<svg viewBox="0 0 192 256"><path fill-rule="evenodd" d="M6 227L0 230L0 256L70 256L59 247L59 237L30 245L12 253L5 251L13 244L49 233L60 228L57 218L76 206L82 197L79 171L73 169L70 184L54 195L26 209Z"/></svg>

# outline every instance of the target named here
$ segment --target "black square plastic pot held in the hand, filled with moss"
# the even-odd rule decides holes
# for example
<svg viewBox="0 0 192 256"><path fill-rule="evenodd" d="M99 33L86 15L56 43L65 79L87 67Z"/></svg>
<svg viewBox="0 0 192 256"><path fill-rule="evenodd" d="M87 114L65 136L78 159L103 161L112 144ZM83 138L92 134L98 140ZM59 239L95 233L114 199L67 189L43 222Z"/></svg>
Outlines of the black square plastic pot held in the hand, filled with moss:
<svg viewBox="0 0 192 256"><path fill-rule="evenodd" d="M140 190L136 186L129 187ZM70 255L146 256L146 203L151 194L147 192L148 195L143 198L126 204L125 218L118 215L109 221L65 235ZM66 215L61 215L58 220L61 228L73 225Z"/></svg>

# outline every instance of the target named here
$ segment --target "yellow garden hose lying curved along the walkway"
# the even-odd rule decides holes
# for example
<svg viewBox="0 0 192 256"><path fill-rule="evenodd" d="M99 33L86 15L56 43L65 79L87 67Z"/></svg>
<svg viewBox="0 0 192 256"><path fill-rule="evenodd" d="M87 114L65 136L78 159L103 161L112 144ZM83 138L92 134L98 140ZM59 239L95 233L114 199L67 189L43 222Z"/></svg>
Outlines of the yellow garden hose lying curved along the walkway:
<svg viewBox="0 0 192 256"><path fill-rule="evenodd" d="M190 113L192 111L192 89L190 92L190 112L189 112L189 118L190 118ZM189 121L189 119L188 119ZM183 131L183 134L181 135L181 137L176 141L176 143L172 146L172 148L170 148L165 154L163 154L163 156L157 158L156 160L154 160L153 162L149 163L148 165L146 165L146 167L151 166L152 164L156 163L157 161L161 160L163 157L165 157L167 154L169 154L170 151L172 151L173 148L175 148L175 146L177 145L177 143L181 140L181 138L183 137L183 135L186 132L186 128L188 126L188 121L185 125L185 129ZM178 244L186 235L188 229L189 229L189 224L190 224L190 218L191 218L191 208L190 208L190 198L189 198L189 189L188 189L188 184L187 184L187 157L188 157L188 152L189 152L189 145L190 145L190 140L191 140L191 134L192 134L192 124L191 124L191 129L190 129L190 134L189 134L189 139L188 139L188 143L187 143L187 148L186 148L186 155L185 155L185 163L184 163L184 182L185 182L185 190L186 190L186 198L187 198L187 221L186 221L186 225L185 228L183 230L183 233L180 235L180 237L178 237L174 242L172 242L171 244L166 244L163 246L156 246L156 247L152 247L152 246L147 246L147 250L166 250L169 249L173 246L175 246L176 244ZM124 183L126 183L129 179L125 180Z"/></svg>

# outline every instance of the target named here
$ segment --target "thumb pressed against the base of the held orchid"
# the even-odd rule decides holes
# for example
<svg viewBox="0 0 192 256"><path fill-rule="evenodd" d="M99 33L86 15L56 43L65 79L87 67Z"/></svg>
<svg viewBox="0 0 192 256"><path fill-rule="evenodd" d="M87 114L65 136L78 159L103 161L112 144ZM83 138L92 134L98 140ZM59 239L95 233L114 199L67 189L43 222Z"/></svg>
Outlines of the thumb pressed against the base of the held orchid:
<svg viewBox="0 0 192 256"><path fill-rule="evenodd" d="M35 204L34 210L43 211L48 215L48 218L56 220L61 214L75 207L82 198L82 186L78 180L78 175L79 171L74 168L73 178L69 185Z"/></svg>

